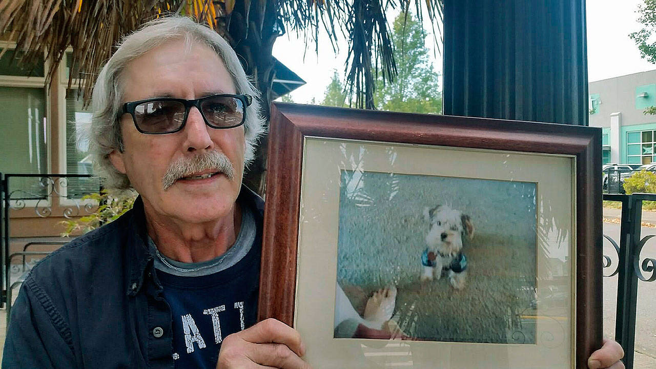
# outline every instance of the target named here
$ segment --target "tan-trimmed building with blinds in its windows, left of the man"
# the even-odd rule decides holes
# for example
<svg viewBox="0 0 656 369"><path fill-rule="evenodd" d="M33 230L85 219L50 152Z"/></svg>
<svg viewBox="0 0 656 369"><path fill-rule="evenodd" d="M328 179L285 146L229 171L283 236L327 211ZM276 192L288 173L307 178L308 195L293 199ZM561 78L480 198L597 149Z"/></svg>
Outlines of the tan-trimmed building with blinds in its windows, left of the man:
<svg viewBox="0 0 656 369"><path fill-rule="evenodd" d="M18 62L14 47L11 41L0 43L0 51L6 49L0 57L0 172L90 174L89 145L81 133L91 123L91 109L83 106L75 89L76 79L73 89L67 91L69 58L62 60L48 85L45 75L52 61L44 58L26 70ZM73 202L54 202L49 195L56 191L68 200L98 191L97 180L70 179L58 183L62 186L54 190L46 182L39 177L7 181L5 196L16 199L10 202L10 236L60 234L64 211Z"/></svg>

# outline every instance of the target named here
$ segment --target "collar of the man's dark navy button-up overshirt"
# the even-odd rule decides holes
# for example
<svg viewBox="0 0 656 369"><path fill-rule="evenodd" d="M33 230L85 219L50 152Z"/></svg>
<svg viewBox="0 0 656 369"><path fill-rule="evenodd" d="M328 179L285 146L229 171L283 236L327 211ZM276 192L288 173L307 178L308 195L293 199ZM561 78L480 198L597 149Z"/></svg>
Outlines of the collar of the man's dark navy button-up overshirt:
<svg viewBox="0 0 656 369"><path fill-rule="evenodd" d="M258 194L242 185L237 202L242 204L242 206L249 207L253 211L257 223L262 222L262 218L264 217L264 200ZM129 278L127 278L126 291L128 295L134 296L144 286L146 270L155 279L154 273L152 273L154 255L148 248L146 213L144 212L144 202L141 196L137 196L136 200L134 200L133 208L123 215L123 217L127 217L126 220L132 235L131 242L128 245L127 263ZM157 288L161 288L159 282L156 282L156 285Z"/></svg>

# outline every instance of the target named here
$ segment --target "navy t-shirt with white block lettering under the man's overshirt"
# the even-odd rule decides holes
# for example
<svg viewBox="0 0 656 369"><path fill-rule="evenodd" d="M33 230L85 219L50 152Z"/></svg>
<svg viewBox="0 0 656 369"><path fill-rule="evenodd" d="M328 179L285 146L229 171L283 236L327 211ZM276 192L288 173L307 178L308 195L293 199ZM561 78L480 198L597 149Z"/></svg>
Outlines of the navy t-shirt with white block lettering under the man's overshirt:
<svg viewBox="0 0 656 369"><path fill-rule="evenodd" d="M253 210L255 240L234 265L200 276L181 276L157 269L163 297L171 307L177 369L216 368L223 339L256 323L262 221Z"/></svg>

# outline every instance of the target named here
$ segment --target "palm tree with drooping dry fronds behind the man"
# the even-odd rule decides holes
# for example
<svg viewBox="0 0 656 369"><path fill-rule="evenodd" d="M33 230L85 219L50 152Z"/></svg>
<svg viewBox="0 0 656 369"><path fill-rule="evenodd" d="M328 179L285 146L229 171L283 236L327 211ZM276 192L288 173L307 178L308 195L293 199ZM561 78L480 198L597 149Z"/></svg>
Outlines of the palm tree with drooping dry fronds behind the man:
<svg viewBox="0 0 656 369"><path fill-rule="evenodd" d="M420 22L428 16L440 34L443 0L417 0L414 5ZM262 106L268 107L277 37L294 31L316 44L318 33L325 30L333 48L338 34L348 40L349 100L358 108L373 109L377 75L390 82L396 76L386 11L407 11L409 6L409 0L0 0L0 32L16 40L26 66L46 55L51 60L49 80L71 47L68 87L82 72L85 77L79 79L79 91L88 101L96 72L123 35L165 13L190 15L232 45L243 58L247 74L255 76ZM268 115L268 109L264 114ZM246 179L260 193L264 191L266 146L265 138Z"/></svg>

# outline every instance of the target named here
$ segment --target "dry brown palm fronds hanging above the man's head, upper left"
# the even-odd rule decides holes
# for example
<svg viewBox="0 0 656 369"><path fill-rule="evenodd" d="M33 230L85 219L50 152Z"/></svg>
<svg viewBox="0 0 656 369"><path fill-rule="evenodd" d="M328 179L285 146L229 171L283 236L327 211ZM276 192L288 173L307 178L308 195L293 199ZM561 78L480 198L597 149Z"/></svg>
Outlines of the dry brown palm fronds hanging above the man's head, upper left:
<svg viewBox="0 0 656 369"><path fill-rule="evenodd" d="M146 20L185 7L214 27L217 6L220 3L212 0L3 0L0 32L13 33L24 66L35 65L43 56L51 61L48 82L70 47L68 87L77 79L79 93L89 101L96 75L121 37Z"/></svg>

